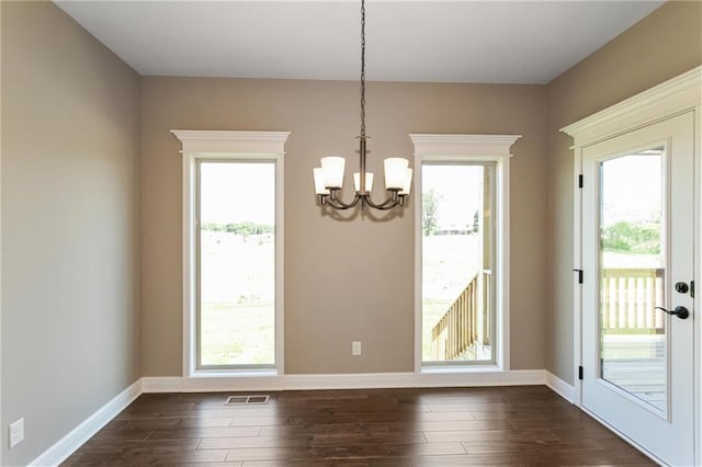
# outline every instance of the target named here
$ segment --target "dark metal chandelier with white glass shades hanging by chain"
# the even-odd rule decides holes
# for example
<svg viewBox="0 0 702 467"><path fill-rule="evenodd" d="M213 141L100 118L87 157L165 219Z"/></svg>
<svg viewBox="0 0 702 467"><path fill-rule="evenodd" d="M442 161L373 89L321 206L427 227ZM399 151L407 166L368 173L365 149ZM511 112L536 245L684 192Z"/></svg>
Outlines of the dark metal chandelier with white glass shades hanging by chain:
<svg viewBox="0 0 702 467"><path fill-rule="evenodd" d="M321 167L313 170L315 193L322 206L335 209L350 209L361 204L361 208L370 206L375 209L388 210L396 206L404 206L409 196L412 182L412 170L407 159L388 158L384 161L385 190L388 192L385 201L375 203L371 197L373 189L373 173L365 171L366 141L365 135L365 1L361 0L361 134L359 135L359 172L353 174L355 194L350 203L339 198L343 186L343 169L346 160L339 156L321 158Z"/></svg>

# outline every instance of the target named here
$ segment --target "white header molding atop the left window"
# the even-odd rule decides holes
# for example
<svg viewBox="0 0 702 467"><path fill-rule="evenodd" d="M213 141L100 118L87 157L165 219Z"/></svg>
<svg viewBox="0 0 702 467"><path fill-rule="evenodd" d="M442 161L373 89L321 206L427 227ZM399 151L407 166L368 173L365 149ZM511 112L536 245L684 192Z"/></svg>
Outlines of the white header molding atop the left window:
<svg viewBox="0 0 702 467"><path fill-rule="evenodd" d="M290 132L217 132L172 129L183 145L182 153L237 152L284 155Z"/></svg>

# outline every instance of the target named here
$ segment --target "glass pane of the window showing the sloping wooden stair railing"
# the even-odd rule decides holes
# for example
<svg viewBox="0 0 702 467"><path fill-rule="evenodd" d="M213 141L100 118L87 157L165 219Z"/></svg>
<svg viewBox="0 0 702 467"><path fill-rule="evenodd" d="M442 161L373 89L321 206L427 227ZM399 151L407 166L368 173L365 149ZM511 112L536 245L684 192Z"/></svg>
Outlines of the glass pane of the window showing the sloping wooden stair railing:
<svg viewBox="0 0 702 467"><path fill-rule="evenodd" d="M492 164L422 164L422 361L491 362Z"/></svg>

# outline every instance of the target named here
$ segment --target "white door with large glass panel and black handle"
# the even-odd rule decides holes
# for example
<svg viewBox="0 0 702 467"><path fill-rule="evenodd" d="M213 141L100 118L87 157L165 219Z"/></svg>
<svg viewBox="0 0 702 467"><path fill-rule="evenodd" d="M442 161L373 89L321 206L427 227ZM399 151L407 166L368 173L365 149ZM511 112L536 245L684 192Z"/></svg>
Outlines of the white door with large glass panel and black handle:
<svg viewBox="0 0 702 467"><path fill-rule="evenodd" d="M693 114L582 148L582 407L694 464Z"/></svg>

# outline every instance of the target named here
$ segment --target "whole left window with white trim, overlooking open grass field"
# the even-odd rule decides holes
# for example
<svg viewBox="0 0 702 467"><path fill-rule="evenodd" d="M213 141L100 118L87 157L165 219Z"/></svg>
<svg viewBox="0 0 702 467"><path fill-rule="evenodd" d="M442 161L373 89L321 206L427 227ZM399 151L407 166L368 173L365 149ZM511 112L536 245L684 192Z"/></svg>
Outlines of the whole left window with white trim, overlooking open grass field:
<svg viewBox="0 0 702 467"><path fill-rule="evenodd" d="M288 133L173 133L183 145L183 374L281 374Z"/></svg>

